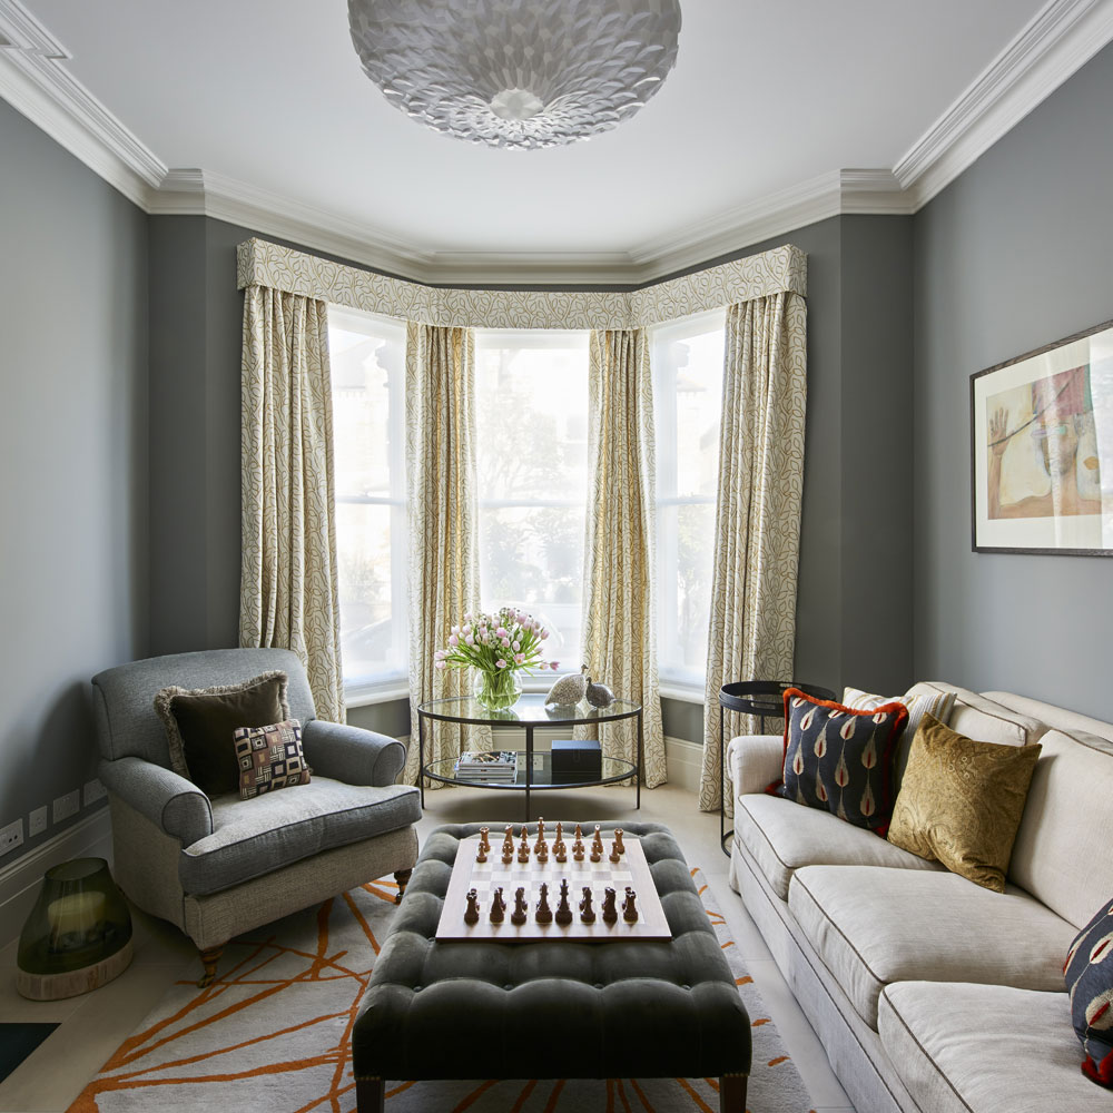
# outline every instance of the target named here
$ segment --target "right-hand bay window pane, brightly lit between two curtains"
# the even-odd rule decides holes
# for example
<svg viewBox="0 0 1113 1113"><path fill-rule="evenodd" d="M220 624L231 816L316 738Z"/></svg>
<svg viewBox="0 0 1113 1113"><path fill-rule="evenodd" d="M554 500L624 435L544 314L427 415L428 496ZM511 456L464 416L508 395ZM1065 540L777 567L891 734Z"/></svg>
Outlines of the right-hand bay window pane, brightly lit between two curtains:
<svg viewBox="0 0 1113 1113"><path fill-rule="evenodd" d="M703 698L726 313L651 329L657 659L666 695Z"/></svg>

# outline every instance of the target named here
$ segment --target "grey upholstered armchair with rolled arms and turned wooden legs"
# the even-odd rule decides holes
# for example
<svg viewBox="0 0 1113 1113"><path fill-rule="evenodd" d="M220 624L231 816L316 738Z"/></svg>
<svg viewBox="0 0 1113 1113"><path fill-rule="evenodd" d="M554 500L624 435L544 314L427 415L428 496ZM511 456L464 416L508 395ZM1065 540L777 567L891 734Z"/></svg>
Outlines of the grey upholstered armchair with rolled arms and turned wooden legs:
<svg viewBox="0 0 1113 1113"><path fill-rule="evenodd" d="M282 669L302 722L308 785L250 800L209 799L170 769L155 695ZM112 818L116 880L145 912L193 939L208 985L228 939L393 873L402 899L417 859L417 789L395 785L405 747L316 718L297 657L220 649L134 661L92 678L100 779Z"/></svg>

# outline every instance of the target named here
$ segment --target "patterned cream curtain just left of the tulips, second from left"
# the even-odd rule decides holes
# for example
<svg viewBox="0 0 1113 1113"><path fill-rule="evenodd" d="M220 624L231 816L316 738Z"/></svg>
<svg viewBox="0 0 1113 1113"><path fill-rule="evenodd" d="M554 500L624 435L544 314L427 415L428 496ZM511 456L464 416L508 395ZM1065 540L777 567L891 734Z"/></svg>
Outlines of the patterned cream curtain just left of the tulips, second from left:
<svg viewBox="0 0 1113 1113"><path fill-rule="evenodd" d="M410 494L410 721L406 784L417 784L417 705L471 690L470 669L433 667L453 626L477 611L475 335L406 329L406 483ZM490 730L425 720L425 761L486 748ZM433 781L431 787L440 787Z"/></svg>

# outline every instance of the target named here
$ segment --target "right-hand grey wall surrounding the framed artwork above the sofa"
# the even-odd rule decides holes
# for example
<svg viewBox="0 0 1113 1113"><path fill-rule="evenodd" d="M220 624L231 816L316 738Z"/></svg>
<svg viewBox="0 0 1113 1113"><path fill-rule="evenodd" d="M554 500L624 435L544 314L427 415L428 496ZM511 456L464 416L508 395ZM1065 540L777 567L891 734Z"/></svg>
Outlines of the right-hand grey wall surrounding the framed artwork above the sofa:
<svg viewBox="0 0 1113 1113"><path fill-rule="evenodd" d="M971 551L969 376L1113 317L1113 48L915 217L915 667L1113 719L1113 560Z"/></svg>

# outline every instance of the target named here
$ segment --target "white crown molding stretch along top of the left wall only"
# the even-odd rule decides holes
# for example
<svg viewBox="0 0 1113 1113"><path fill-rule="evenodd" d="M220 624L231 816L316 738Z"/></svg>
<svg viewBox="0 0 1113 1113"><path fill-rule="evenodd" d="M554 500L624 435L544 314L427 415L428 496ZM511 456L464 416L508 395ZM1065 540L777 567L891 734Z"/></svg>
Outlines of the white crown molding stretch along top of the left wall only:
<svg viewBox="0 0 1113 1113"><path fill-rule="evenodd" d="M128 200L146 207L165 164L62 65L69 51L21 4L0 0L0 97Z"/></svg>

